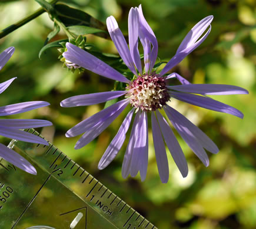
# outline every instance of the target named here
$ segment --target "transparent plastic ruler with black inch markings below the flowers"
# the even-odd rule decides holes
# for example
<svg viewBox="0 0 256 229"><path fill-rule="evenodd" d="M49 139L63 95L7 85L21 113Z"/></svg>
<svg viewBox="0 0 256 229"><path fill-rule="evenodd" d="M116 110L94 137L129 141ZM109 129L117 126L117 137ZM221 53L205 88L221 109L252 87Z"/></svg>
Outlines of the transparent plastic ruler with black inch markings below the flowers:
<svg viewBox="0 0 256 229"><path fill-rule="evenodd" d="M39 136L33 129L28 132ZM82 213L75 229L157 229L51 143L12 140L8 147L29 160L38 174L0 161L0 228L45 225L69 229Z"/></svg>

